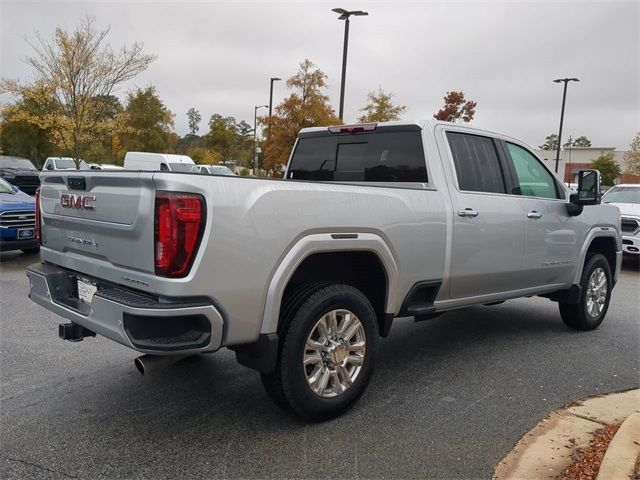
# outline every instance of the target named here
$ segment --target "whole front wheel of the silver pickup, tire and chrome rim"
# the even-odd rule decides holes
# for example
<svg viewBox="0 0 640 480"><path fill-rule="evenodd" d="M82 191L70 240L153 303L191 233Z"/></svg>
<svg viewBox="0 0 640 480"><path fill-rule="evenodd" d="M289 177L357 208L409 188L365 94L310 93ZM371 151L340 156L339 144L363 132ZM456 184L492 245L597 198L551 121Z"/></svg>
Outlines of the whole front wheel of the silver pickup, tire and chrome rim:
<svg viewBox="0 0 640 480"><path fill-rule="evenodd" d="M571 328L594 330L607 314L613 288L611 267L604 255L595 254L587 260L582 271L580 287L582 291L579 302L560 303L560 316Z"/></svg>

